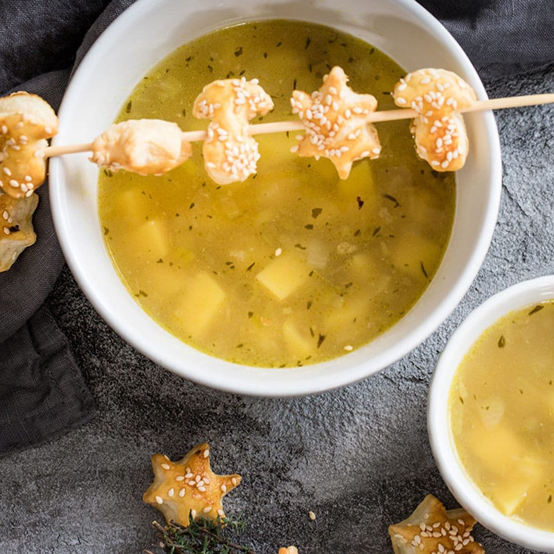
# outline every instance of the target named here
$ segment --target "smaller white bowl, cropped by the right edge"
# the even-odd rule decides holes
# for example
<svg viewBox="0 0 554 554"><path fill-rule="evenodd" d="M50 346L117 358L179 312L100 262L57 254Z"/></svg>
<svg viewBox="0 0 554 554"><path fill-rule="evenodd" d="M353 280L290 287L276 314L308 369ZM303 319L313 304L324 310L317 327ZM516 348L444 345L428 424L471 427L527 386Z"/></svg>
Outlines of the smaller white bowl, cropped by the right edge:
<svg viewBox="0 0 554 554"><path fill-rule="evenodd" d="M477 521L496 535L541 552L554 552L554 532L541 531L501 514L465 473L452 438L448 397L461 360L486 329L513 310L550 299L554 299L554 275L511 286L471 312L452 335L439 358L427 409L433 455L452 494Z"/></svg>

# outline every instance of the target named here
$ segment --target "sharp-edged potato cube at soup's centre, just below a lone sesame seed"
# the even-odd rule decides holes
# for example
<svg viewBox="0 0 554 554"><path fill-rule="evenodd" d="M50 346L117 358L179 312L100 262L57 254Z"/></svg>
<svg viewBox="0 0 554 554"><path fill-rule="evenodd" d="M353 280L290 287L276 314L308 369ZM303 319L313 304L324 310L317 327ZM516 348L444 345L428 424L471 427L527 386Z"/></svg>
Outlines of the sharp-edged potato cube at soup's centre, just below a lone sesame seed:
<svg viewBox="0 0 554 554"><path fill-rule="evenodd" d="M258 273L256 279L279 300L294 293L309 279L306 263L294 254L281 254Z"/></svg>

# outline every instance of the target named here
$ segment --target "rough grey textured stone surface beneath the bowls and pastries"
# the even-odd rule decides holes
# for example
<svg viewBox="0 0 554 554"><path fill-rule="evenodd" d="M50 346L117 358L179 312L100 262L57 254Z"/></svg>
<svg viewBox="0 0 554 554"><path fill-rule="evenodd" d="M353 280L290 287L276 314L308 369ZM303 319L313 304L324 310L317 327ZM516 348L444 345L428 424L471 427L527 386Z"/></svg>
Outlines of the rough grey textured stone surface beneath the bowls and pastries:
<svg viewBox="0 0 554 554"><path fill-rule="evenodd" d="M554 90L543 73L488 83L491 96ZM504 187L493 244L452 316L379 375L319 397L263 400L198 387L146 360L95 313L66 269L48 304L98 402L90 423L0 459L0 553L139 553L158 512L141 501L150 455L208 440L216 471L244 476L227 497L262 554L391 552L387 526L432 492L456 506L427 440L439 352L471 309L524 279L554 273L554 106L499 112ZM317 521L307 511L317 514ZM529 552L480 526L488 554Z"/></svg>

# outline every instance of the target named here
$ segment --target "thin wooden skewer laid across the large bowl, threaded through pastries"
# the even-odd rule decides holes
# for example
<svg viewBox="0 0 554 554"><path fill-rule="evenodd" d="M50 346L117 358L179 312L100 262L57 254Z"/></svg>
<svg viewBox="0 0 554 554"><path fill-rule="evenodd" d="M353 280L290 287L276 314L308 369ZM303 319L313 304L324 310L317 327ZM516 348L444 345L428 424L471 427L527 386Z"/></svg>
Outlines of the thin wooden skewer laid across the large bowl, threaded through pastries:
<svg viewBox="0 0 554 554"><path fill-rule="evenodd" d="M479 100L475 104L459 110L461 113L486 110L504 110L510 107L537 106L540 104L554 104L554 93L551 94L530 94L527 96L510 96L509 98L494 98L492 100ZM418 114L415 110L401 108L398 110L376 111L368 119L371 123L383 121L398 121L402 119L413 119ZM250 135L266 135L285 131L304 131L304 124L301 121L276 121L275 123L259 123L250 125ZM185 131L183 140L188 142L202 141L206 139L206 131ZM89 152L92 143L74 144L67 146L47 146L44 148L44 157L61 156L63 154L74 154L78 152Z"/></svg>

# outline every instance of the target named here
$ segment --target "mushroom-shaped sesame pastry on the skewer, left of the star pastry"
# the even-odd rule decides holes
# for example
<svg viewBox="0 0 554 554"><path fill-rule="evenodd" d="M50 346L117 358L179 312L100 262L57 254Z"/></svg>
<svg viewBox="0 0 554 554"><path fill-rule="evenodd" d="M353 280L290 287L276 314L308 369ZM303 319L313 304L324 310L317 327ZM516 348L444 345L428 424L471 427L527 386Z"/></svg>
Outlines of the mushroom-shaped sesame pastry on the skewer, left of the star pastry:
<svg viewBox="0 0 554 554"><path fill-rule="evenodd" d="M226 79L213 81L194 101L193 115L211 119L202 153L208 175L218 184L245 181L257 172L258 142L248 134L248 122L273 110L273 100L258 84Z"/></svg>

